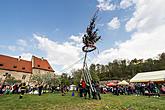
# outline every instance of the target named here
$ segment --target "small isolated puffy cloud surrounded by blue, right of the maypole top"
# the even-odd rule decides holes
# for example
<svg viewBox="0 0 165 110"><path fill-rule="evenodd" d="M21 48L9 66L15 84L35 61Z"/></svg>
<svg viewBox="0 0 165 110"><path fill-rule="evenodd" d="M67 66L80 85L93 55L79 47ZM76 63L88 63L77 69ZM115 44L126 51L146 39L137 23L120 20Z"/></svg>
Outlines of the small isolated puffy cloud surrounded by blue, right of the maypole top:
<svg viewBox="0 0 165 110"><path fill-rule="evenodd" d="M107 25L110 30L118 29L120 28L120 21L118 17L114 17Z"/></svg>

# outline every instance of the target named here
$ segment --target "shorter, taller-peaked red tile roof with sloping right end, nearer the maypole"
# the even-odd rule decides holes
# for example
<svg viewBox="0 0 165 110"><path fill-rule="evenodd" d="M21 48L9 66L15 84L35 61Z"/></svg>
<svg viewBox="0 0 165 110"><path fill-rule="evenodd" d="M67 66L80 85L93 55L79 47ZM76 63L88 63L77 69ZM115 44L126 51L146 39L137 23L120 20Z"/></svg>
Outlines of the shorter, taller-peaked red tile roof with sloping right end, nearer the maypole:
<svg viewBox="0 0 165 110"><path fill-rule="evenodd" d="M34 61L33 68L54 72L53 68L50 66L47 60L35 56L32 57L32 60Z"/></svg>

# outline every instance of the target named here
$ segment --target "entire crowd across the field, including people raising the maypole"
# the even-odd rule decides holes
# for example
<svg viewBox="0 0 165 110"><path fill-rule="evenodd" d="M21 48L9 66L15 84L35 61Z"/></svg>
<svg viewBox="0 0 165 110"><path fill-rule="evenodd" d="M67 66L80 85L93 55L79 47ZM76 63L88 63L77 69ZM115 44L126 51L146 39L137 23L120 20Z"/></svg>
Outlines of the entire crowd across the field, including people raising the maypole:
<svg viewBox="0 0 165 110"><path fill-rule="evenodd" d="M20 94L20 99L25 93L28 94L41 94L44 90L49 90L49 92L61 91L62 96L65 96L69 92L69 86L65 84L59 85L59 87L47 87L42 84L35 86L26 85L25 83L5 85L0 84L0 96L4 94ZM164 84L156 84L152 81L148 83L133 83L130 85L115 85L111 87L100 86L98 81L85 82L82 80L76 87L78 96L84 97L85 99L99 99L101 100L100 94L112 93L114 95L136 95L136 96L154 96L160 97L160 94L165 94ZM36 92L37 91L37 92ZM74 96L75 90L73 90L72 96Z"/></svg>

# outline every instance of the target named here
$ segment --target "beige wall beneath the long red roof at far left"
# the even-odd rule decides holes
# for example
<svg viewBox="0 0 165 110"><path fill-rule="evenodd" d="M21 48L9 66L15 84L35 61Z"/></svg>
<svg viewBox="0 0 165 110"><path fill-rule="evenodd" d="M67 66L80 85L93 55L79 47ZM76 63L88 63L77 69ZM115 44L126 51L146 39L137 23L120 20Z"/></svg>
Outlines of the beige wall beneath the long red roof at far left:
<svg viewBox="0 0 165 110"><path fill-rule="evenodd" d="M2 78L2 80L4 80L5 77L3 75L6 73L11 74L11 76L15 77L16 80L22 80L25 82L29 82L30 77L31 77L31 73L16 72L16 71L9 71L9 70L0 70L0 79ZM23 76L25 76L25 79L22 79Z"/></svg>

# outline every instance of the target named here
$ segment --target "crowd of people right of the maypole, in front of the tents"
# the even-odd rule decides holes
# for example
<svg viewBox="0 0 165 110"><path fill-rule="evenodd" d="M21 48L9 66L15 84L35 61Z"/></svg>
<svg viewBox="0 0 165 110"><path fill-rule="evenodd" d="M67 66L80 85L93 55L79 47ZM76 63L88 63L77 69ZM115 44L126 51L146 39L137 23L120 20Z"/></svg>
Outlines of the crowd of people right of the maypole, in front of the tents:
<svg viewBox="0 0 165 110"><path fill-rule="evenodd" d="M131 95L136 96L154 96L160 97L160 94L165 93L165 87L163 84L156 84L152 81L148 83L134 83L130 85L115 85L112 87L102 87L101 93L111 92L114 95Z"/></svg>

